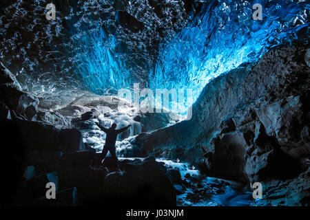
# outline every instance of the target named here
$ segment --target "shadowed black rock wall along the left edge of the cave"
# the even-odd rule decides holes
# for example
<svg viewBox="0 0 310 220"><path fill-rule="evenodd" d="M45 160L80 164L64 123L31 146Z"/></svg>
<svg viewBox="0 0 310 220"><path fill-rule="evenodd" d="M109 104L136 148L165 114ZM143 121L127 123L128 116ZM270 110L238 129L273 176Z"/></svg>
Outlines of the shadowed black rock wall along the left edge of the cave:
<svg viewBox="0 0 310 220"><path fill-rule="evenodd" d="M63 154L85 150L81 133L53 126L61 124L61 115L39 111L39 100L21 91L2 63L0 68L1 205L74 205L76 188L57 190L57 199L48 201L45 184L58 187Z"/></svg>

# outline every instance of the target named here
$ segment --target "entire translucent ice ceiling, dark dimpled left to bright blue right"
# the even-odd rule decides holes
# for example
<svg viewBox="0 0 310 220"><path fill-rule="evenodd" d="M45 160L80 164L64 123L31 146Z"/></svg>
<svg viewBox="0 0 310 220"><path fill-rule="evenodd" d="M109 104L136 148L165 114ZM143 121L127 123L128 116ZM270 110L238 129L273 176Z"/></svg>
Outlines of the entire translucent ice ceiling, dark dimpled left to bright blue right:
<svg viewBox="0 0 310 220"><path fill-rule="evenodd" d="M55 0L56 21L46 21L45 1L8 2L1 60L25 90L56 104L76 89L105 94L133 83L193 89L194 101L211 78L309 40L307 1ZM252 19L254 3L262 21Z"/></svg>

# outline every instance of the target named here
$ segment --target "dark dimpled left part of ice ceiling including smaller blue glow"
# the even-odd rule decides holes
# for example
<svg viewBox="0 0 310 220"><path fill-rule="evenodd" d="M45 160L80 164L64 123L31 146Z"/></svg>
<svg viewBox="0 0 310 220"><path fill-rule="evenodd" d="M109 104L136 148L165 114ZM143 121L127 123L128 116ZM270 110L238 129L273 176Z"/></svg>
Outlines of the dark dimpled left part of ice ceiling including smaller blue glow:
<svg viewBox="0 0 310 220"><path fill-rule="evenodd" d="M0 57L23 89L51 105L68 104L80 90L103 94L147 83L158 43L187 23L182 1L55 0L1 5Z"/></svg>

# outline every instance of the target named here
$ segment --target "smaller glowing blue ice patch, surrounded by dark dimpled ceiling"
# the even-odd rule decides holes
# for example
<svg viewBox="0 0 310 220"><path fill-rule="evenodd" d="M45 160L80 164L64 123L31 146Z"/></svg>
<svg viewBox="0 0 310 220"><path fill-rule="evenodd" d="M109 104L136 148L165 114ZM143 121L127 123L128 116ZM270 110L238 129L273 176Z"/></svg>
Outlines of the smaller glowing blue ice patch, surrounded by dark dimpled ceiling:
<svg viewBox="0 0 310 220"><path fill-rule="evenodd" d="M113 52L114 41L114 36L106 36L100 28L74 42L79 47L76 68L85 87L96 94L111 88L124 88L131 83L125 63Z"/></svg>

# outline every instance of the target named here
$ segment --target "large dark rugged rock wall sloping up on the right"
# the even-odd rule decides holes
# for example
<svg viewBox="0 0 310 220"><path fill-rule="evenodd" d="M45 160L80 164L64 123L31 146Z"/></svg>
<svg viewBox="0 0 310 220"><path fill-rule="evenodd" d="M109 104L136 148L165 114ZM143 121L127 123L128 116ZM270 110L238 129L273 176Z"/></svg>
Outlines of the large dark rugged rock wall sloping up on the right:
<svg viewBox="0 0 310 220"><path fill-rule="evenodd" d="M276 47L258 63L219 76L193 105L192 120L143 133L136 144L200 164L209 175L252 183L298 178L310 155L307 49Z"/></svg>

